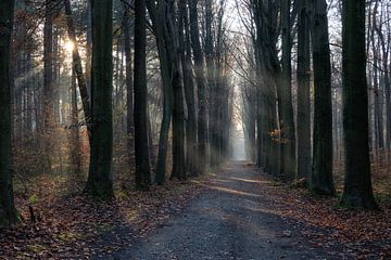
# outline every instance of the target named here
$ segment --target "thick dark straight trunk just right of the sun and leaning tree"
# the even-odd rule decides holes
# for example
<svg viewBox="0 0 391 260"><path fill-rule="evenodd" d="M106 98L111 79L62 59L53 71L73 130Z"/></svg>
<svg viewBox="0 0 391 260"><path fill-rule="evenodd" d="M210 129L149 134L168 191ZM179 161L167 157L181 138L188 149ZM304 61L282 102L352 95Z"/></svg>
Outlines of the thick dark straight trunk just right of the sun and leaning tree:
<svg viewBox="0 0 391 260"><path fill-rule="evenodd" d="M92 0L92 80L90 167L86 192L112 198L113 156L113 1Z"/></svg>

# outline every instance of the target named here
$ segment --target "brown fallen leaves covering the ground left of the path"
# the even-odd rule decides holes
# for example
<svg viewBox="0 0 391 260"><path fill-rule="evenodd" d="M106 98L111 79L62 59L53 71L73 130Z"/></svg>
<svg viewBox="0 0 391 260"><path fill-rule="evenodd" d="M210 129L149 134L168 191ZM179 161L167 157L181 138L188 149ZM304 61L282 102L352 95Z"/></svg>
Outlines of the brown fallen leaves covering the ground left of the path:
<svg viewBox="0 0 391 260"><path fill-rule="evenodd" d="M117 190L116 200L104 203L80 195L81 185L59 195L53 178L40 183L45 190L33 198L16 196L24 221L0 230L0 259L90 259L116 251L163 224L201 191L191 182L169 182L149 192ZM30 222L28 206L40 221Z"/></svg>

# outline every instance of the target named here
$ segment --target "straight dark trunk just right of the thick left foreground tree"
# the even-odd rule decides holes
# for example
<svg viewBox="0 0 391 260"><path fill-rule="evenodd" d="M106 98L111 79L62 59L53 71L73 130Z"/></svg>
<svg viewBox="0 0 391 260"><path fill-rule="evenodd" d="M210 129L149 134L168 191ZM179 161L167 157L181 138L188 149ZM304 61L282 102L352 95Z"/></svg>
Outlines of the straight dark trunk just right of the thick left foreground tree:
<svg viewBox="0 0 391 260"><path fill-rule="evenodd" d="M148 126L147 126L147 18L146 0L135 0L135 153L136 153L136 186L149 190L151 185Z"/></svg>

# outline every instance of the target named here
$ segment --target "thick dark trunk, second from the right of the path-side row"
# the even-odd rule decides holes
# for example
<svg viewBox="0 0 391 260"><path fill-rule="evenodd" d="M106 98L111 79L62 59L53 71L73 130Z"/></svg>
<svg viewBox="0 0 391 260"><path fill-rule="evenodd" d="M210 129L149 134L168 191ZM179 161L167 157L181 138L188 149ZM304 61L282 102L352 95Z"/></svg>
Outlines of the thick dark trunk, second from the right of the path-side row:
<svg viewBox="0 0 391 260"><path fill-rule="evenodd" d="M326 0L313 2L314 151L311 188L333 195L331 65Z"/></svg>

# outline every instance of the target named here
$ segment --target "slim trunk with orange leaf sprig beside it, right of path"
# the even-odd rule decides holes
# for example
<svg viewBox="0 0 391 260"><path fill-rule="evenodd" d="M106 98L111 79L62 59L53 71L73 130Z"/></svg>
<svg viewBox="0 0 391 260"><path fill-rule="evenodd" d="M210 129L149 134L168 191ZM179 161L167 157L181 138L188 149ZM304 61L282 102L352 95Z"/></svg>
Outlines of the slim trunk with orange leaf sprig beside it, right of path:
<svg viewBox="0 0 391 260"><path fill-rule="evenodd" d="M290 2L281 1L282 29L282 74L281 74L281 170L287 181L297 177L295 130L292 105L292 69L291 69L291 31L290 31Z"/></svg>

